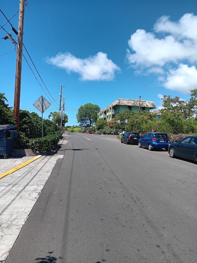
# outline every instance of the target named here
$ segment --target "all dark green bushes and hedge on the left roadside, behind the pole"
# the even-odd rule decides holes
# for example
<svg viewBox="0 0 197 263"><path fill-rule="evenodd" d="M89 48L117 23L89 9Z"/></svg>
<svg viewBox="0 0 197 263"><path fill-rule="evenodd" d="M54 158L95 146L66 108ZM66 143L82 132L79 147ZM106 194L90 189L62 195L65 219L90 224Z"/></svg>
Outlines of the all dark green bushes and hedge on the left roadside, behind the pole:
<svg viewBox="0 0 197 263"><path fill-rule="evenodd" d="M35 112L20 110L19 132L14 142L15 149L32 149L38 152L50 152L57 148L61 137L61 117L56 112L50 113L50 119L43 120L42 138L42 118ZM68 122L65 114L62 127ZM7 104L4 93L0 93L0 124L14 124L13 110Z"/></svg>

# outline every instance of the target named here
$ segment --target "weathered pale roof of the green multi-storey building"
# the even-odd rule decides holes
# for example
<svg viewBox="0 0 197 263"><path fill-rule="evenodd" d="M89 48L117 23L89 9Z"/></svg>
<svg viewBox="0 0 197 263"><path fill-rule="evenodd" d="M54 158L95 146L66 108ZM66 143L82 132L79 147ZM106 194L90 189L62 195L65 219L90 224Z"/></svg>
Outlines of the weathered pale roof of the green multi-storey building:
<svg viewBox="0 0 197 263"><path fill-rule="evenodd" d="M115 106L115 105L126 105L126 106L137 106L139 107L139 100L130 100L130 99L118 99L114 102L112 102L110 105L102 109L101 111L107 110L109 106ZM156 109L156 105L153 101L142 101L140 100L140 106L141 107L148 107L150 109Z"/></svg>

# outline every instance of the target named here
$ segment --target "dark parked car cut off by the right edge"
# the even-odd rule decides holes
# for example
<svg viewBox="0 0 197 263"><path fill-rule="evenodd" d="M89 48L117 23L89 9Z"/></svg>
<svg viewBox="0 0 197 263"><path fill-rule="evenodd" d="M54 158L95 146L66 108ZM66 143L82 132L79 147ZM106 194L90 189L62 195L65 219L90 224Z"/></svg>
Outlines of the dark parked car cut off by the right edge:
<svg viewBox="0 0 197 263"><path fill-rule="evenodd" d="M180 141L169 144L168 153L175 156L197 161L197 136L187 136Z"/></svg>

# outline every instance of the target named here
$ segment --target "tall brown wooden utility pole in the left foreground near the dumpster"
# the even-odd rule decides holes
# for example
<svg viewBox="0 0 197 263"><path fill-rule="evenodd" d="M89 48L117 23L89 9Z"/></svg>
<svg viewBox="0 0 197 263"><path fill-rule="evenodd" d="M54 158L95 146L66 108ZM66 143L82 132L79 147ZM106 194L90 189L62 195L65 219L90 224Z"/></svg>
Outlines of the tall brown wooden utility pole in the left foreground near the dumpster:
<svg viewBox="0 0 197 263"><path fill-rule="evenodd" d="M14 111L13 111L13 117L16 121L17 131L19 129L24 11L25 11L25 0L20 0L19 21L18 21L18 43L17 43L17 55L16 55L16 77L15 77L15 92L14 92Z"/></svg>

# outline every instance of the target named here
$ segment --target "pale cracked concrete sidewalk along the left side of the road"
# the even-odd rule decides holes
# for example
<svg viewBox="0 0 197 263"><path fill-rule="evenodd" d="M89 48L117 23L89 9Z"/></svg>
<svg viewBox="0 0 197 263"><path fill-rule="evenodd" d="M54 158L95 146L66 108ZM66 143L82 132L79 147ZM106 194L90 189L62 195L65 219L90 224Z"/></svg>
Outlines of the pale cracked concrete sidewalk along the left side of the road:
<svg viewBox="0 0 197 263"><path fill-rule="evenodd" d="M0 263L5 262L23 224L38 199L58 159L63 158L69 134L63 134L58 149L51 155L41 155L26 166L0 179ZM34 156L14 156L0 159L0 174Z"/></svg>

